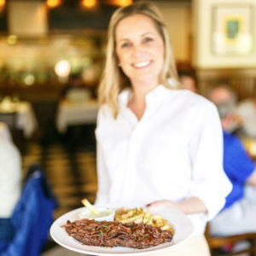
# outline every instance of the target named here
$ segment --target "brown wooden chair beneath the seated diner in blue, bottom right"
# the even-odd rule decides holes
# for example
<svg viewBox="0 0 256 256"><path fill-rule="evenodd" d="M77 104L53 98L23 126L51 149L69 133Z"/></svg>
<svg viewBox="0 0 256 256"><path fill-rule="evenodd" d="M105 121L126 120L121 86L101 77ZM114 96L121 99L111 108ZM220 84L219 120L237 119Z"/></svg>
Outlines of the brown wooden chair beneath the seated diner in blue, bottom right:
<svg viewBox="0 0 256 256"><path fill-rule="evenodd" d="M241 253L247 253L247 255L256 256L256 233L245 233L235 236L211 236L210 227L209 224L207 224L205 236L207 237L212 256L232 256L240 255ZM250 243L250 247L241 249L240 251L236 252L221 252L221 248L234 245L239 241L248 241Z"/></svg>

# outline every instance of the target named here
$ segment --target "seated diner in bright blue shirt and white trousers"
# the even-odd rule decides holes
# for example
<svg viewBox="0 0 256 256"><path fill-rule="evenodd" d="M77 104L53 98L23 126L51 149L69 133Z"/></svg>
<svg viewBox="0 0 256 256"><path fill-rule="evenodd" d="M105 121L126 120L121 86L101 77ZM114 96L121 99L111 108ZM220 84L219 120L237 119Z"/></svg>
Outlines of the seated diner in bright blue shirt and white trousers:
<svg viewBox="0 0 256 256"><path fill-rule="evenodd" d="M224 129L224 172L233 184L223 210L210 223L210 231L213 236L256 232L256 201L251 201L245 193L247 187L256 187L255 163L247 155L238 137L228 131L233 122L234 92L220 84L209 90L207 97L218 108Z"/></svg>

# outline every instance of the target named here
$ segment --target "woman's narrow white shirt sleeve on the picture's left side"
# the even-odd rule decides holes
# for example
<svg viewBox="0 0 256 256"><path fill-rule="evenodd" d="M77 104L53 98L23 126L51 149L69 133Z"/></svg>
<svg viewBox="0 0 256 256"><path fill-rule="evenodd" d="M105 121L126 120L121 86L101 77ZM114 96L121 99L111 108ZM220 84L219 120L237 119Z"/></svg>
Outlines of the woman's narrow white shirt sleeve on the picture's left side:
<svg viewBox="0 0 256 256"><path fill-rule="evenodd" d="M97 118L97 126L102 123L102 111L100 110ZM96 193L96 202L95 205L107 205L108 204L108 195L110 188L110 180L108 177L108 171L106 168L104 154L102 152L102 143L97 134L96 129L96 168L97 168L97 193Z"/></svg>

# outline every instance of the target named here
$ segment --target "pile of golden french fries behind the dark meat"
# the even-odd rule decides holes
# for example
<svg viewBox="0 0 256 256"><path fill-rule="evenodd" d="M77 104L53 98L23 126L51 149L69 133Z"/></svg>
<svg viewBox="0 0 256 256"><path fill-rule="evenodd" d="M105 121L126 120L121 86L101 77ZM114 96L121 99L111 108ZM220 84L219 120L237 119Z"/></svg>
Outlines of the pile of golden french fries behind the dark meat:
<svg viewBox="0 0 256 256"><path fill-rule="evenodd" d="M161 230L172 230L174 229L170 224L167 224L167 220L162 218L160 215L152 214L149 211L144 212L143 208L132 208L126 209L124 207L119 208L115 211L114 220L119 221L120 223L143 223L152 225L154 227L159 227Z"/></svg>

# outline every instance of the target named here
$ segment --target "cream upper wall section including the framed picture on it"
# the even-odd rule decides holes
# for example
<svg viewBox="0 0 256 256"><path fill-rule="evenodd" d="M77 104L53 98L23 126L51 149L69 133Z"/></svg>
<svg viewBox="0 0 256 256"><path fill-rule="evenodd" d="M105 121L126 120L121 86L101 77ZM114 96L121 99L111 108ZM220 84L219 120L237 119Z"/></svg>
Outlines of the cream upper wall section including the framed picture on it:
<svg viewBox="0 0 256 256"><path fill-rule="evenodd" d="M193 65L255 68L256 1L193 1Z"/></svg>

